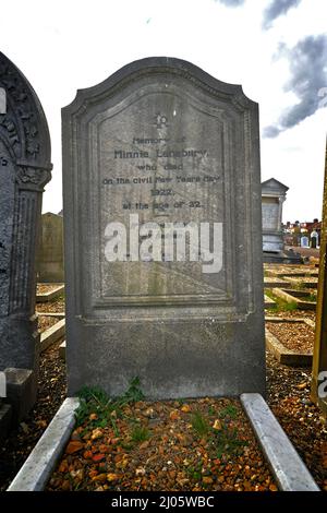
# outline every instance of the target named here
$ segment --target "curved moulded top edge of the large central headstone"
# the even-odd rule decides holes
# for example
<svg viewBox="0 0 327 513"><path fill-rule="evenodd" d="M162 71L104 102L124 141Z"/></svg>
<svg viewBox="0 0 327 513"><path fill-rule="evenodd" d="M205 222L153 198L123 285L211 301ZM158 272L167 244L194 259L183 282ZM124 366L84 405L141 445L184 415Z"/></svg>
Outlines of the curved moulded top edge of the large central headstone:
<svg viewBox="0 0 327 513"><path fill-rule="evenodd" d="M221 82L191 62L172 57L149 57L124 65L98 85L78 90L75 99L62 109L63 117L80 114L88 105L100 102L129 84L150 76L180 76L203 90L206 94L230 100L241 111L257 108L257 104L245 96L242 86Z"/></svg>

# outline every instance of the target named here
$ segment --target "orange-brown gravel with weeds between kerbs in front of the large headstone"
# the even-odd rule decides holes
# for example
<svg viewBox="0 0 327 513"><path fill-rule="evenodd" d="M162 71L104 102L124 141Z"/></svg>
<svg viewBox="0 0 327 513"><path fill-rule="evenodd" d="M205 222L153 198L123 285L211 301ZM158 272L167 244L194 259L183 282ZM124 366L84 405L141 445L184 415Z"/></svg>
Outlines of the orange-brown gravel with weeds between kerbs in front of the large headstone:
<svg viewBox="0 0 327 513"><path fill-rule="evenodd" d="M277 491L239 401L140 401L111 416L73 432L49 491Z"/></svg>

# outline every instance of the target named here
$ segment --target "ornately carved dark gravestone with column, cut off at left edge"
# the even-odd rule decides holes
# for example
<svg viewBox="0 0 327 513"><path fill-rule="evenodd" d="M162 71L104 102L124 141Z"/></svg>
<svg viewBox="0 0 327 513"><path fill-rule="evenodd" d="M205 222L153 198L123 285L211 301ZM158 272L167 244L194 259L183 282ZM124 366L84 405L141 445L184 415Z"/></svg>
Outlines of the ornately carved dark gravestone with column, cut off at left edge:
<svg viewBox="0 0 327 513"><path fill-rule="evenodd" d="M3 53L0 92L0 371L14 383L14 369L20 379L28 377L31 404L39 344L35 253L44 186L51 177L50 139L34 90Z"/></svg>

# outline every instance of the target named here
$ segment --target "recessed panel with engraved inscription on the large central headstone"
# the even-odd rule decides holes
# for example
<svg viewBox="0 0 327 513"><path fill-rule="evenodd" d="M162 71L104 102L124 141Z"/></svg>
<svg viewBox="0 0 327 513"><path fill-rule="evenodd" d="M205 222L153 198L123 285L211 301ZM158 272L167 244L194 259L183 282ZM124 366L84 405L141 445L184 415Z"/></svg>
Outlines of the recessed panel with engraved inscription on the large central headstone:
<svg viewBox="0 0 327 513"><path fill-rule="evenodd" d="M194 119L196 123L190 123ZM97 150L92 157L100 188L99 297L232 297L225 256L222 270L210 276L203 274L201 259L167 262L165 248L161 262L107 262L104 237L108 223L129 228L131 214L138 214L140 224L161 226L220 223L228 232L225 122L218 112L206 112L182 95L166 92L146 94L93 121Z"/></svg>

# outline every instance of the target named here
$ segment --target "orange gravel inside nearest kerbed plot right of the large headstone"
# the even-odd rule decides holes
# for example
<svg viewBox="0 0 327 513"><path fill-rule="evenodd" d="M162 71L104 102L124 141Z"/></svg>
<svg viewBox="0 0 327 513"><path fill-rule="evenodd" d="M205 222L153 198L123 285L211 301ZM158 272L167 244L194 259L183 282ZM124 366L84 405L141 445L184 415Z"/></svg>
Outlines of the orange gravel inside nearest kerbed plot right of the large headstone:
<svg viewBox="0 0 327 513"><path fill-rule="evenodd" d="M288 349L302 355L313 354L315 332L304 322L267 322L266 327Z"/></svg>

